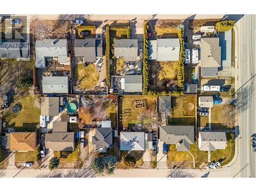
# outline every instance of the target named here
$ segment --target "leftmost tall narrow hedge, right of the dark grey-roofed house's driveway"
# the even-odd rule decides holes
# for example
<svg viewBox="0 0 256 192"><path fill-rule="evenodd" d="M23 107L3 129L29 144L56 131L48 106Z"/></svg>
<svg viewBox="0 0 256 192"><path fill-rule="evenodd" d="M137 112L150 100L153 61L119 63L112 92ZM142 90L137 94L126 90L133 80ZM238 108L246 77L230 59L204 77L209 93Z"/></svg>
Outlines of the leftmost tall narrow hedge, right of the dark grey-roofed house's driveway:
<svg viewBox="0 0 256 192"><path fill-rule="evenodd" d="M110 87L111 84L111 66L110 66L110 27L106 26L106 51L105 51L105 63L106 63L106 84Z"/></svg>

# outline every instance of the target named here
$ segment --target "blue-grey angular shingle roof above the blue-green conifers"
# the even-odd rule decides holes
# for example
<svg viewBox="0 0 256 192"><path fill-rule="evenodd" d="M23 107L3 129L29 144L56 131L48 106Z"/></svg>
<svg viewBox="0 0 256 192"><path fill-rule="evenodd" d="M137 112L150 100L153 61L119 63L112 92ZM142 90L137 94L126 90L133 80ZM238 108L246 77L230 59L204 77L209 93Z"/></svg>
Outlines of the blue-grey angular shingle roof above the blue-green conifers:
<svg viewBox="0 0 256 192"><path fill-rule="evenodd" d="M96 148L110 148L113 146L113 133L111 127L97 127L92 142Z"/></svg>

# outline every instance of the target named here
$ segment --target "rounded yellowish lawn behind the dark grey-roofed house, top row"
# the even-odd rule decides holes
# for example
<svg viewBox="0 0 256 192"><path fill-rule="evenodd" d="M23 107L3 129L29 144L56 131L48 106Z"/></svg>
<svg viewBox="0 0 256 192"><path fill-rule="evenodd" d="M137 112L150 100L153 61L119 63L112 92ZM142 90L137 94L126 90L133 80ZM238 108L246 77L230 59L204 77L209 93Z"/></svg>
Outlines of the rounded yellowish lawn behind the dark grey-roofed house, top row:
<svg viewBox="0 0 256 192"><path fill-rule="evenodd" d="M87 67L84 67L83 63L78 63L73 68L74 81L80 80L78 87L81 89L92 89L96 86L99 80L99 72L95 65L90 63Z"/></svg>

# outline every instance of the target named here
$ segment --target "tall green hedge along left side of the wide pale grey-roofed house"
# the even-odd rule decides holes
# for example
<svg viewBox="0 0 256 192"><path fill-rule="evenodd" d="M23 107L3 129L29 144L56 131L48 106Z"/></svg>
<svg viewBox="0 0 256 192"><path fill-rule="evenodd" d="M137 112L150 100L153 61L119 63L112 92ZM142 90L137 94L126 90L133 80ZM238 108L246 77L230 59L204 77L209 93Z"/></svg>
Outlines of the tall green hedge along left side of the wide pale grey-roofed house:
<svg viewBox="0 0 256 192"><path fill-rule="evenodd" d="M143 95L148 93L148 39L147 30L150 28L148 25L143 27Z"/></svg>

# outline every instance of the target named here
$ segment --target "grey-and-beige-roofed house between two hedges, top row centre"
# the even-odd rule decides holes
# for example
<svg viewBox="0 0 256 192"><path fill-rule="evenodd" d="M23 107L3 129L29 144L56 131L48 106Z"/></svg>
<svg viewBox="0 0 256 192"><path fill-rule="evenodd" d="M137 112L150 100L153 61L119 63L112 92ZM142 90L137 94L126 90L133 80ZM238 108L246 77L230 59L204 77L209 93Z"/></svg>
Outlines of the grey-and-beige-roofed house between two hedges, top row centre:
<svg viewBox="0 0 256 192"><path fill-rule="evenodd" d="M135 61L138 57L138 39L115 39L115 57L123 57L124 61Z"/></svg>

